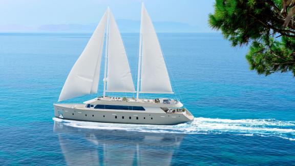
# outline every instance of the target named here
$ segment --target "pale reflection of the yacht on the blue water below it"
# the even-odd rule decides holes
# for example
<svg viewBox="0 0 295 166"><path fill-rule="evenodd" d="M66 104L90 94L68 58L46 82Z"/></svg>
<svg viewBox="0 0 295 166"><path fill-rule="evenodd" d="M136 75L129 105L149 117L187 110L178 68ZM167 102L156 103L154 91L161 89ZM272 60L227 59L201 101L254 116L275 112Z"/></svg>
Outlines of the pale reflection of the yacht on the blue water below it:
<svg viewBox="0 0 295 166"><path fill-rule="evenodd" d="M170 165L184 134L82 129L54 121L68 165Z"/></svg>

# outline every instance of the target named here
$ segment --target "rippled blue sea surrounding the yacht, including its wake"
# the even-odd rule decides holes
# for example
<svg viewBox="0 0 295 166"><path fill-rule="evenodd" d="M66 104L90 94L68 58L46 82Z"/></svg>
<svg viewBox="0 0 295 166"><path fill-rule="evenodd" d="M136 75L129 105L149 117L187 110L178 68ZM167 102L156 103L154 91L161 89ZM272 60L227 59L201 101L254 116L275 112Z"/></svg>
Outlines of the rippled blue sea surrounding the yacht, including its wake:
<svg viewBox="0 0 295 166"><path fill-rule="evenodd" d="M158 34L175 91L161 96L179 98L193 122L154 126L54 118L53 103L90 36L0 34L1 165L295 164L295 78L250 71L248 48L231 47L219 33ZM139 35L122 38L135 81ZM66 102L100 96L101 82L97 95Z"/></svg>

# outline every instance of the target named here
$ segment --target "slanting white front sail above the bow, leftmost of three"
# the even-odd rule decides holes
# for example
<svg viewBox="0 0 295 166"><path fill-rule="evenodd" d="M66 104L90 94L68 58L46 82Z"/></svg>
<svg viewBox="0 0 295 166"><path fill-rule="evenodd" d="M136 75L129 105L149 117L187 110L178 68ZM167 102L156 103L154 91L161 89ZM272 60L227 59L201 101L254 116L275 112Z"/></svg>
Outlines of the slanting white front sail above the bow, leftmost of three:
<svg viewBox="0 0 295 166"><path fill-rule="evenodd" d="M108 12L109 10L104 13L86 48L70 71L58 101L97 93Z"/></svg>

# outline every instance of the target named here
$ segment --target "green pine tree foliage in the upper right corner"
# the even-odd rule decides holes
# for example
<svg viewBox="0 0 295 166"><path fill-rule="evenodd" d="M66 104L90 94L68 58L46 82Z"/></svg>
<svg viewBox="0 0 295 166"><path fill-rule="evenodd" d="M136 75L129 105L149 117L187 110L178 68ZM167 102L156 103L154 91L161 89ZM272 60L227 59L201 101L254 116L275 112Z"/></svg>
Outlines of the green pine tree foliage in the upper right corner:
<svg viewBox="0 0 295 166"><path fill-rule="evenodd" d="M209 24L233 46L250 45L251 70L295 76L294 16L295 0L216 0Z"/></svg>

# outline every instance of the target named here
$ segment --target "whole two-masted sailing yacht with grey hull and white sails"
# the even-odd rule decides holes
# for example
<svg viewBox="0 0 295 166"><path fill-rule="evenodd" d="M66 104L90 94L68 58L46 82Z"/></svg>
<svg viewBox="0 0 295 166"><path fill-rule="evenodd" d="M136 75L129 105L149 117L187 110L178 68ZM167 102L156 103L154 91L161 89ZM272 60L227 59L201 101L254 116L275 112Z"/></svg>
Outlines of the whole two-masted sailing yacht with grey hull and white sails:
<svg viewBox="0 0 295 166"><path fill-rule="evenodd" d="M108 8L70 71L58 101L97 93L103 48L103 96L83 103L54 103L55 117L135 124L179 124L193 120L194 116L177 99L139 98L139 93L174 93L157 34L143 4L137 90L118 26ZM107 92L136 93L136 98L109 97Z"/></svg>

